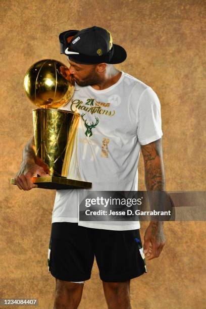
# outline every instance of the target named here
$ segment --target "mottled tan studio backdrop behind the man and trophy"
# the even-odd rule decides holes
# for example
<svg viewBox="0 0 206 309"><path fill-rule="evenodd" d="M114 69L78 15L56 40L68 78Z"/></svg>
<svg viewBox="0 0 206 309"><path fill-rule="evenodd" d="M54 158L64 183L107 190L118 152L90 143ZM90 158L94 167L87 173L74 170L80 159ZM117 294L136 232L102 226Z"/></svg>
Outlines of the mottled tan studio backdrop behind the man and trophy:
<svg viewBox="0 0 206 309"><path fill-rule="evenodd" d="M117 67L158 94L162 108L167 190L205 190L205 1L2 0L1 14L1 263L0 297L38 298L53 308L55 278L47 249L55 191L10 185L32 135L32 108L23 88L26 70L60 55L59 33L97 25L122 44ZM143 161L139 189L144 187ZM142 223L143 237L148 223ZM203 308L205 223L167 222L167 243L148 273L131 281L133 308ZM85 283L83 309L107 308L96 263Z"/></svg>

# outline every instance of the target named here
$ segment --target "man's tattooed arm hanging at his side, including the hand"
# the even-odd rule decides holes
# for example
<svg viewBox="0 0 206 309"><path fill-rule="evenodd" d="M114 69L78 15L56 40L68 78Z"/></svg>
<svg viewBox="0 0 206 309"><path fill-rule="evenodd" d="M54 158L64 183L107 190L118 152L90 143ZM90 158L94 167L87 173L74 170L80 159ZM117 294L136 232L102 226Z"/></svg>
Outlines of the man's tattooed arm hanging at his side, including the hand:
<svg viewBox="0 0 206 309"><path fill-rule="evenodd" d="M147 191L165 191L162 138L141 145L144 159L145 186ZM151 221L144 235L145 260L158 258L164 244L163 221Z"/></svg>

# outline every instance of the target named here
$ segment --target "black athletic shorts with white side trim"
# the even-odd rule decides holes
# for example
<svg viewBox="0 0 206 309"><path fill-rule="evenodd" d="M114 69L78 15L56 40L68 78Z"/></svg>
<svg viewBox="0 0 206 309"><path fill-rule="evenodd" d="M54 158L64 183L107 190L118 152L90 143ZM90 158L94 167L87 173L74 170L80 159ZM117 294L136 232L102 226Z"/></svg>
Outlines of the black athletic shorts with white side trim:
<svg viewBox="0 0 206 309"><path fill-rule="evenodd" d="M126 281L146 273L139 230L111 231L55 222L48 249L48 272L71 282L90 279L96 258L102 281Z"/></svg>

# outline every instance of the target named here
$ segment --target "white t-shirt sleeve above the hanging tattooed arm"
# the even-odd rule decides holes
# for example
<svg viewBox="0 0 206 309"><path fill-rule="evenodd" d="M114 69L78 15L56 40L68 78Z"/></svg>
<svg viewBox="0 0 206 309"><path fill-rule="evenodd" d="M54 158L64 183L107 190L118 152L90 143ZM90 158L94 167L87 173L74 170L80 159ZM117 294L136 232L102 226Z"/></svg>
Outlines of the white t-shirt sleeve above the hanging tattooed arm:
<svg viewBox="0 0 206 309"><path fill-rule="evenodd" d="M160 100L151 87L146 88L139 98L137 117L137 137L141 145L163 136Z"/></svg>

